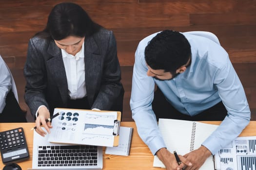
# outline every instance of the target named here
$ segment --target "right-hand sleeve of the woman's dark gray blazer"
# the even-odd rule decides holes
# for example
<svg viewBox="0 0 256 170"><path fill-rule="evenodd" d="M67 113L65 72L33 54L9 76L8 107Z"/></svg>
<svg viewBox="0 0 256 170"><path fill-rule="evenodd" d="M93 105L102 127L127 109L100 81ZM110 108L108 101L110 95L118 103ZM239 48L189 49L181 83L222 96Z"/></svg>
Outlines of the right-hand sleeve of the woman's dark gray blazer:
<svg viewBox="0 0 256 170"><path fill-rule="evenodd" d="M112 31L110 31L103 65L100 90L92 108L122 111L124 89L120 82L121 70L117 56L117 43Z"/></svg>

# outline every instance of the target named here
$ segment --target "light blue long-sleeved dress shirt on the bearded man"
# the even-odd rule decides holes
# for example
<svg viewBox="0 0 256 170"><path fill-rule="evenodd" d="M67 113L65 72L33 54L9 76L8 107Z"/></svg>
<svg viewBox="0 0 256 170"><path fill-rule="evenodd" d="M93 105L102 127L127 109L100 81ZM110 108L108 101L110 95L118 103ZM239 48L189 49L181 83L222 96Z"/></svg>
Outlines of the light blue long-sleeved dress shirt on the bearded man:
<svg viewBox="0 0 256 170"><path fill-rule="evenodd" d="M151 105L156 84L166 99L185 115L194 116L220 101L224 103L227 116L202 143L212 154L217 153L242 132L251 117L243 86L228 53L208 38L183 33L191 45L191 66L172 80L159 81L147 76L144 59L145 47L156 34L141 40L135 53L130 105L139 136L153 154L166 147Z"/></svg>

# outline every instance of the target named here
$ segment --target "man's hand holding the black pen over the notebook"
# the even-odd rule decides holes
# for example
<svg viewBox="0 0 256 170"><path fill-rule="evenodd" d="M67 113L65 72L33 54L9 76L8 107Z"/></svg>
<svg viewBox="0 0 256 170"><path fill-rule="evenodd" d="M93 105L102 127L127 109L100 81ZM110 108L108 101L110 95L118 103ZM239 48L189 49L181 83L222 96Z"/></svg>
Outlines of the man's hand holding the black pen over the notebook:
<svg viewBox="0 0 256 170"><path fill-rule="evenodd" d="M170 153L166 148L161 148L157 152L157 156L165 165L166 170L181 170L185 166L191 166L192 164L183 156L178 155L180 161L182 162L180 165L177 164L175 155Z"/></svg>

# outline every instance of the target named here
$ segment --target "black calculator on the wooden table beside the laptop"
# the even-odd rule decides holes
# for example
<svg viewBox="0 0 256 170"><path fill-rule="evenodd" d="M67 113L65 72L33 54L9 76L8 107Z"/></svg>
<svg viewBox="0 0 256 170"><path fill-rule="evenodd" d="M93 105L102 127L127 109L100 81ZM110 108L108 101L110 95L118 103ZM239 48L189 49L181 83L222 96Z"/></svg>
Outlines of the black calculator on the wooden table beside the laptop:
<svg viewBox="0 0 256 170"><path fill-rule="evenodd" d="M0 132L0 151L4 164L29 158L23 128Z"/></svg>

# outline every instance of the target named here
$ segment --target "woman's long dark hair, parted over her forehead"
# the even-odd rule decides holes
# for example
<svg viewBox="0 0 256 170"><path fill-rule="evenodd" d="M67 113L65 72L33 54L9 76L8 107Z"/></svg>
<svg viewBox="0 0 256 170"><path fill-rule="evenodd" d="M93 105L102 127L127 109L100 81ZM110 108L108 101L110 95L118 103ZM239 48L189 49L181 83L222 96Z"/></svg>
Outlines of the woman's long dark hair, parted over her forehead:
<svg viewBox="0 0 256 170"><path fill-rule="evenodd" d="M68 36L88 37L101 28L93 22L81 6L75 3L59 3L53 7L46 28L36 35L61 40Z"/></svg>

